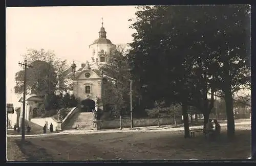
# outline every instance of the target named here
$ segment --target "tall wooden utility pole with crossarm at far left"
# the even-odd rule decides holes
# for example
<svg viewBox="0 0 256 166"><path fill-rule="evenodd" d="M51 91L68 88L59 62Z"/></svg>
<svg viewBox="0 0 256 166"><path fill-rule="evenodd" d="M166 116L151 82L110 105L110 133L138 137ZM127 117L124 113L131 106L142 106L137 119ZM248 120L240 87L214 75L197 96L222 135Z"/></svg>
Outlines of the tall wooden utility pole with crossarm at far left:
<svg viewBox="0 0 256 166"><path fill-rule="evenodd" d="M33 67L27 64L27 60L25 63L18 63L25 67L24 69L24 91L23 91L23 112L22 112L22 144L25 143L25 105L26 105L26 74L27 74L27 67Z"/></svg>

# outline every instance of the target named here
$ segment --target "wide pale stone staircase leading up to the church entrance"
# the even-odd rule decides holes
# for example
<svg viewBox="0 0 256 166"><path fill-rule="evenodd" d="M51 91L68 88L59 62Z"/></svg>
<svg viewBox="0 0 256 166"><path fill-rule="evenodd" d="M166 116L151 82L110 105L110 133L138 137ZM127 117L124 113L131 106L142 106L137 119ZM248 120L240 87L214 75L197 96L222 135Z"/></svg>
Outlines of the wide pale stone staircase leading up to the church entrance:
<svg viewBox="0 0 256 166"><path fill-rule="evenodd" d="M83 130L92 130L93 129L93 113L77 112L71 118L70 122L65 127L65 130L75 129L75 126Z"/></svg>

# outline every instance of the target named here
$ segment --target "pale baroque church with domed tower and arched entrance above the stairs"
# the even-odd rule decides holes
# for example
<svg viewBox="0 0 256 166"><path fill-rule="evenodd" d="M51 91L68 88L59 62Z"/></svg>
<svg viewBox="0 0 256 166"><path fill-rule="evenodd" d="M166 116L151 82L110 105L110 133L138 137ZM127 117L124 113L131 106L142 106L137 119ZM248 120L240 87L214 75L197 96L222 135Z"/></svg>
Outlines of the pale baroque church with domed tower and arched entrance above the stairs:
<svg viewBox="0 0 256 166"><path fill-rule="evenodd" d="M99 70L100 65L108 63L110 57L118 54L116 45L106 38L103 21L101 24L98 39L89 45L91 61L82 63L77 70L73 62L63 74L65 79L61 84L69 87L69 93L78 99L78 108L81 112L103 110L104 92L108 82L113 80Z"/></svg>

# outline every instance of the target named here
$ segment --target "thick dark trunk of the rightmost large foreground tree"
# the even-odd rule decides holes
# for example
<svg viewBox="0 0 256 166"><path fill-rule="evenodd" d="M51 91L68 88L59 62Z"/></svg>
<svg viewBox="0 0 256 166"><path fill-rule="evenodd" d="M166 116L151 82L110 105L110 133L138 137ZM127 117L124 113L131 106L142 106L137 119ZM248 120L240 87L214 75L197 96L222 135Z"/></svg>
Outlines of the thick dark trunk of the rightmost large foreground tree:
<svg viewBox="0 0 256 166"><path fill-rule="evenodd" d="M233 138L234 137L233 98L232 98L231 91L229 90L225 92L225 104L226 104L226 115L227 115L227 136L229 138Z"/></svg>

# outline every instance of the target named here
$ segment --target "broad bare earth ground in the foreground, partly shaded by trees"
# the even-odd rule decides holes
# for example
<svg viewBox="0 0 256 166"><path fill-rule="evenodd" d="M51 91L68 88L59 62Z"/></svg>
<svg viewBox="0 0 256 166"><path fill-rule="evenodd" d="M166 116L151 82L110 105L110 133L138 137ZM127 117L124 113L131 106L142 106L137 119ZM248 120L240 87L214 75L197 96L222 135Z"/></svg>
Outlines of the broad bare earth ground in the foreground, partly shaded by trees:
<svg viewBox="0 0 256 166"><path fill-rule="evenodd" d="M201 134L185 139L181 131L95 133L26 139L29 161L245 159L251 151L251 131L237 130L229 141L205 140ZM17 143L18 144L18 143Z"/></svg>

